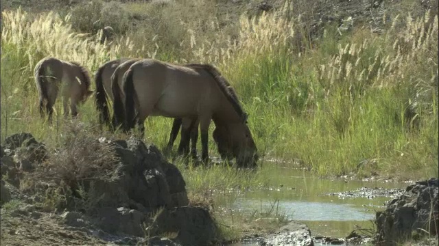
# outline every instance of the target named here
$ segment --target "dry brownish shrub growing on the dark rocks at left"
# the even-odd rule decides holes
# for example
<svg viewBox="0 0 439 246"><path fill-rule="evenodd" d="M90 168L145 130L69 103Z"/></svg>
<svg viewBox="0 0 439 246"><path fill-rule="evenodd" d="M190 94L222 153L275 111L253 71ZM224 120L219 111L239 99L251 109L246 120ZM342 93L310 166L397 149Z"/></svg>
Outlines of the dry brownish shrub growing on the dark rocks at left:
<svg viewBox="0 0 439 246"><path fill-rule="evenodd" d="M99 143L83 126L73 124L67 126L60 148L28 174L25 182L47 208L73 205L87 210L101 198L91 195L95 183L117 181L120 168L114 146Z"/></svg>

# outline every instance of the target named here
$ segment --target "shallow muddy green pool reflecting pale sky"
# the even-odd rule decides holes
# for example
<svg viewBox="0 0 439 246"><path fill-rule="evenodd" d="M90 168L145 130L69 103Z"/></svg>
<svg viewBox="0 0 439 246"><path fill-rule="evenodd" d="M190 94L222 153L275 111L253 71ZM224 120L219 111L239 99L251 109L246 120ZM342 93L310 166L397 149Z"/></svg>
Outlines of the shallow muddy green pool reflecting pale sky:
<svg viewBox="0 0 439 246"><path fill-rule="evenodd" d="M375 212L383 210L385 202L392 199L391 195L340 198L325 193L353 191L361 187L407 187L406 183L316 178L303 169L265 165L270 165L268 169L272 178L269 189L232 193L219 198L219 206L231 207L238 213L252 213L254 210L269 210L274 204L274 211L305 223L313 236L320 234L341 238L356 226L372 228L370 220L375 218Z"/></svg>

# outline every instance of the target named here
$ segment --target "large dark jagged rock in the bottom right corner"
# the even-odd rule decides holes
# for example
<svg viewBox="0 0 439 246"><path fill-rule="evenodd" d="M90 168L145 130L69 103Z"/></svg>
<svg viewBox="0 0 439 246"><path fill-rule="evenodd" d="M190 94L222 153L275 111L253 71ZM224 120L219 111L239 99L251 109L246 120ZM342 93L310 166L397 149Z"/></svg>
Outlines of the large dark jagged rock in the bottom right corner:
<svg viewBox="0 0 439 246"><path fill-rule="evenodd" d="M377 212L377 245L396 245L412 232L427 231L431 236L439 230L439 180L419 181L405 189L405 193Z"/></svg>

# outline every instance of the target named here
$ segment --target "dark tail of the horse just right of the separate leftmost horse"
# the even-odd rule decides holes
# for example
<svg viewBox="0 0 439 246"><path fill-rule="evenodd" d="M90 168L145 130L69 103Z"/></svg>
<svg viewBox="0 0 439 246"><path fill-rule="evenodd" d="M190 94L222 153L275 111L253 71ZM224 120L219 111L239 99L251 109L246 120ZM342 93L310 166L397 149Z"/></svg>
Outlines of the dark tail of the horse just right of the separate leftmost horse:
<svg viewBox="0 0 439 246"><path fill-rule="evenodd" d="M108 111L108 100L107 95L104 90L104 84L102 83L102 73L104 72L105 66L100 67L95 74L95 103L96 110L99 113L99 123L108 124L110 122L110 111Z"/></svg>

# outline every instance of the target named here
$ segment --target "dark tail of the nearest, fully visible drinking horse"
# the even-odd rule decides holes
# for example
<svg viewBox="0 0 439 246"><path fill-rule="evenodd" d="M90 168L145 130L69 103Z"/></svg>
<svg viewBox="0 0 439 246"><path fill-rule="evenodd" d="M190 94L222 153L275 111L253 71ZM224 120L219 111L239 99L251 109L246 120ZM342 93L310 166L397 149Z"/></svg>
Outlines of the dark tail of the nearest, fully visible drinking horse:
<svg viewBox="0 0 439 246"><path fill-rule="evenodd" d="M132 74L134 70L128 69L123 76L123 92L125 92L125 121L128 129L134 127L134 81L132 80Z"/></svg>

